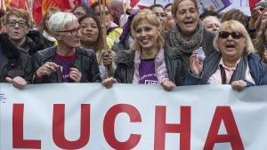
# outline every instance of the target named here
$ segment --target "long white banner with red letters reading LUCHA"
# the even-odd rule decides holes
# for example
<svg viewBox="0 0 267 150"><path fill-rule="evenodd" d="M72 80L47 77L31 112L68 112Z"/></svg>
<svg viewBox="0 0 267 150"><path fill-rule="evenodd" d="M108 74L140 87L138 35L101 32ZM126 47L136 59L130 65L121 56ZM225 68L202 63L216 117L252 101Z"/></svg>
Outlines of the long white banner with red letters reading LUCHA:
<svg viewBox="0 0 267 150"><path fill-rule="evenodd" d="M266 91L0 83L0 149L265 150Z"/></svg>

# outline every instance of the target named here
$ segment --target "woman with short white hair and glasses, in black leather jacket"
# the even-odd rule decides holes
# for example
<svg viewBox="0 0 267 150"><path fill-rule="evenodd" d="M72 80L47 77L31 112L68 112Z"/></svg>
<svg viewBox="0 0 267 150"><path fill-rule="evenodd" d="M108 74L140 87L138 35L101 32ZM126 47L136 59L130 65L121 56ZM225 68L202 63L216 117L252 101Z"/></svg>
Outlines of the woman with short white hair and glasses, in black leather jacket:
<svg viewBox="0 0 267 150"><path fill-rule="evenodd" d="M96 83L100 72L95 54L80 48L80 25L69 12L56 12L48 29L58 45L36 52L34 83Z"/></svg>

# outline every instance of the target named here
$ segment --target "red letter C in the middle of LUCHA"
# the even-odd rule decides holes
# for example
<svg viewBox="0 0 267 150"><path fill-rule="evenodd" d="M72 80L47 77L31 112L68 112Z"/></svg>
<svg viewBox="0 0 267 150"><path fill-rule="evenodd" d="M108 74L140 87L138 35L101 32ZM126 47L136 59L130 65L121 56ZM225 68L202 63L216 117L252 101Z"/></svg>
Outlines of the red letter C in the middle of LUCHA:
<svg viewBox="0 0 267 150"><path fill-rule="evenodd" d="M141 138L141 135L131 134L130 138L125 142L117 141L114 133L114 125L117 114L126 113L130 117L130 122L142 122L141 115L138 110L127 104L118 104L109 109L108 113L104 119L104 135L109 143L109 146L112 146L114 149L132 149L136 146Z"/></svg>

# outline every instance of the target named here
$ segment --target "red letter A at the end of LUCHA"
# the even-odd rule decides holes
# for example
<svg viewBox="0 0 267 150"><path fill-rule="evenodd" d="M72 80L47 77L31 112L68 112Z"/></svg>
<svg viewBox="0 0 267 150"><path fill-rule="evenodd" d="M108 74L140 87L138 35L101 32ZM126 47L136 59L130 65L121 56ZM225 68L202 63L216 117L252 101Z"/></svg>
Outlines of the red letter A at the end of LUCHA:
<svg viewBox="0 0 267 150"><path fill-rule="evenodd" d="M224 122L226 135L218 135L221 122ZM213 150L215 143L231 143L233 150L244 150L239 129L231 112L231 107L216 107L213 122L211 123L204 150Z"/></svg>

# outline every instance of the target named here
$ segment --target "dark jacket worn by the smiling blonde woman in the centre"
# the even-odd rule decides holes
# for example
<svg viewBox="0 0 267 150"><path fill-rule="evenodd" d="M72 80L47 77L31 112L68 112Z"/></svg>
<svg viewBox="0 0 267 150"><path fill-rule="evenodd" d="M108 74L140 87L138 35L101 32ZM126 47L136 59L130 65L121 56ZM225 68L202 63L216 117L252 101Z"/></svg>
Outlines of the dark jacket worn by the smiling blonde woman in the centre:
<svg viewBox="0 0 267 150"><path fill-rule="evenodd" d="M182 85L185 77L185 71L182 61L177 52L170 47L165 48L166 70L170 81L177 86ZM132 83L134 79L134 51L119 51L115 58L117 69L114 77L118 83Z"/></svg>

